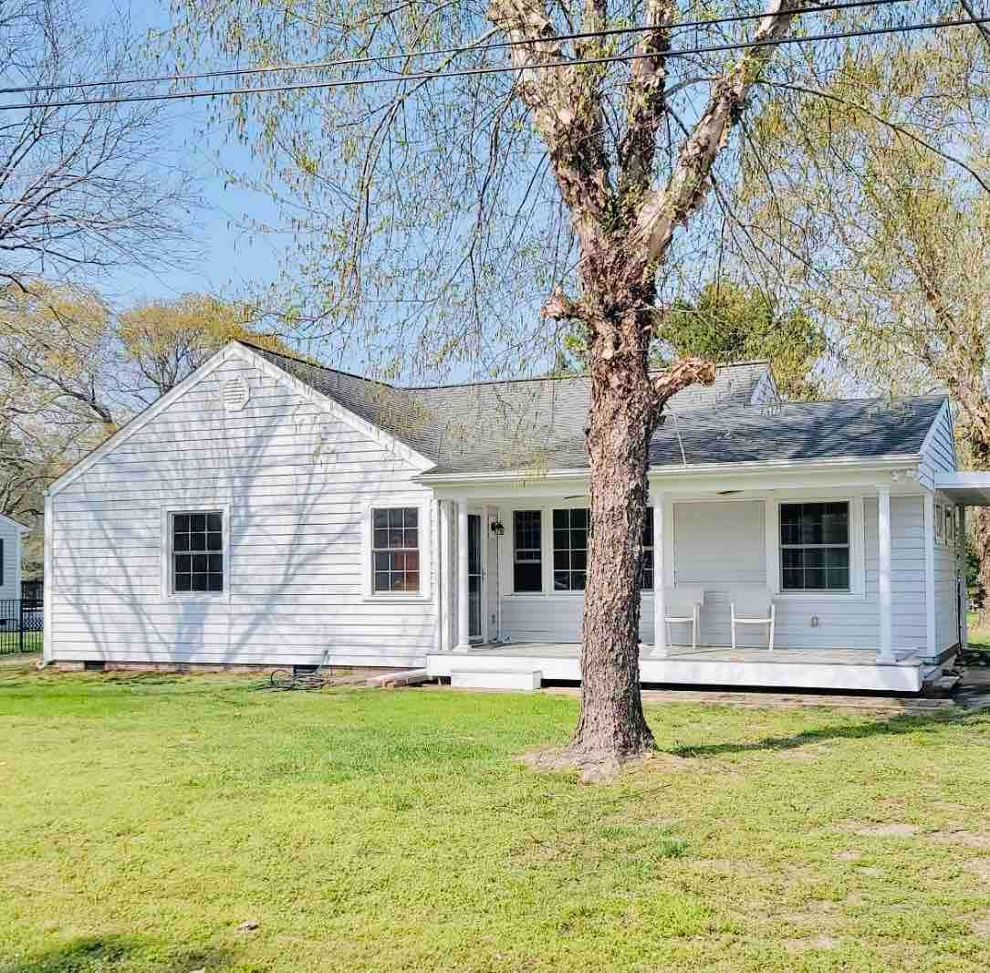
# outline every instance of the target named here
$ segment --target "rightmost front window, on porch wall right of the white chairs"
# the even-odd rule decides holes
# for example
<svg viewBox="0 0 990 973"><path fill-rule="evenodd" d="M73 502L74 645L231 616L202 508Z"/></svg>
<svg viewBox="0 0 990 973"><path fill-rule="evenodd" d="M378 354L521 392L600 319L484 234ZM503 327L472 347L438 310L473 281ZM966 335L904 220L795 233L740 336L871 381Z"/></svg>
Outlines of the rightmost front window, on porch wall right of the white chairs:
<svg viewBox="0 0 990 973"><path fill-rule="evenodd" d="M780 504L783 592L848 592L849 504Z"/></svg>

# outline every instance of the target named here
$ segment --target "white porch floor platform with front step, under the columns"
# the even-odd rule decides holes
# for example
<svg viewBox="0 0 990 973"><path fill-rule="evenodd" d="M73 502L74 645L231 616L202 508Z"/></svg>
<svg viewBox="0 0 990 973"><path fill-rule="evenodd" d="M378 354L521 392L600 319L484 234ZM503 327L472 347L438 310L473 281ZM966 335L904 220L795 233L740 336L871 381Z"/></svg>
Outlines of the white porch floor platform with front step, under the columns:
<svg viewBox="0 0 990 973"><path fill-rule="evenodd" d="M483 645L468 652L431 653L427 671L433 677L473 674L472 685L484 674L540 673L543 681L579 682L580 646L574 642L515 642ZM729 646L671 646L665 657L640 653L644 684L684 686L739 686L769 689L853 690L881 693L918 693L940 672L913 655L880 663L867 649L766 649Z"/></svg>

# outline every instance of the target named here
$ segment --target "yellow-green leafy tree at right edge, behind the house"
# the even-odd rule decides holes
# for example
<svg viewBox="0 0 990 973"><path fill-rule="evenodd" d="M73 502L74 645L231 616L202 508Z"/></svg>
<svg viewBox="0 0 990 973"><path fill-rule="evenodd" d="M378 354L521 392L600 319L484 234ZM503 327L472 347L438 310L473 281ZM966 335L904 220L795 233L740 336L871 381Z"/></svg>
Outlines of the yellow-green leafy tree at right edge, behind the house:
<svg viewBox="0 0 990 973"><path fill-rule="evenodd" d="M794 86L759 119L755 138L780 175L768 185L751 171L747 187L756 225L789 228L778 240L798 259L784 283L830 322L847 381L887 395L949 392L963 463L982 471L990 470L988 68L990 41L976 31L926 38L910 58L850 56L816 94ZM975 525L990 591L986 508ZM990 623L986 605L981 623Z"/></svg>

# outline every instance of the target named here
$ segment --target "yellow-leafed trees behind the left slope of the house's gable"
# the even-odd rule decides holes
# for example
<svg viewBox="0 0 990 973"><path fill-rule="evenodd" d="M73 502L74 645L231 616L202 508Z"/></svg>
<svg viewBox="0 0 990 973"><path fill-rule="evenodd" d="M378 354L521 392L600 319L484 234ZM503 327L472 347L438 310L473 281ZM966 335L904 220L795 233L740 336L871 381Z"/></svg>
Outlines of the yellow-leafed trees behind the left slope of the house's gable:
<svg viewBox="0 0 990 973"><path fill-rule="evenodd" d="M232 338L287 352L207 294L119 315L95 291L44 281L0 292L0 513L32 522L44 490ZM41 533L27 546L40 553Z"/></svg>

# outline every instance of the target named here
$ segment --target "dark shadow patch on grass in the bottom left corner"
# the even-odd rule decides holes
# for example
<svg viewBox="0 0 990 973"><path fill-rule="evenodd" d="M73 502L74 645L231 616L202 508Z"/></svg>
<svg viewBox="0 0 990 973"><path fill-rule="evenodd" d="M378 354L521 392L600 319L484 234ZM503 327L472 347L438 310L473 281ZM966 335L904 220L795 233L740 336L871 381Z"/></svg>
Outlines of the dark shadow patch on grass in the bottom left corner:
<svg viewBox="0 0 990 973"><path fill-rule="evenodd" d="M0 960L0 973L189 973L229 969L234 957L220 948L171 951L167 946L131 936L77 936L13 962ZM140 964L140 965L139 965Z"/></svg>

